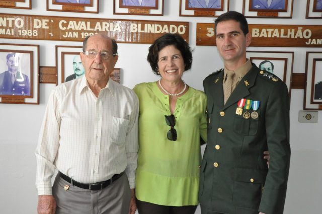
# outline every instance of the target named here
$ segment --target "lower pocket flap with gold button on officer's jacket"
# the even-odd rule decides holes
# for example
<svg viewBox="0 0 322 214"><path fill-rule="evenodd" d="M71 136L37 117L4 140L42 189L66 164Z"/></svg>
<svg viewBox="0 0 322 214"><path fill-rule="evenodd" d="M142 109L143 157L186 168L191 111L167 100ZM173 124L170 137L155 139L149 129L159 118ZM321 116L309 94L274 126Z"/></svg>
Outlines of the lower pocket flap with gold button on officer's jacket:
<svg viewBox="0 0 322 214"><path fill-rule="evenodd" d="M248 182L248 183L265 183L266 171L255 169L235 168L235 181Z"/></svg>

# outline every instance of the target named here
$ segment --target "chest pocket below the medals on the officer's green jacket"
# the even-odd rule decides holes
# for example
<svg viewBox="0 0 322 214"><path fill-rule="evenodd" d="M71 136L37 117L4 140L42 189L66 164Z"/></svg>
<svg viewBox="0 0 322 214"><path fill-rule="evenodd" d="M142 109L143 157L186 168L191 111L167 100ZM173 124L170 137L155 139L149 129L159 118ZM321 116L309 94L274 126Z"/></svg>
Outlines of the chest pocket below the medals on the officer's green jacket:
<svg viewBox="0 0 322 214"><path fill-rule="evenodd" d="M243 134L243 135L255 135L258 130L258 123L259 123L259 118L261 116L260 110L257 110L256 112L258 113L257 118L248 118L246 119L243 114L248 111L250 114L253 111L243 109L243 113L241 115L235 114L234 122L233 122L233 130L238 133L238 134Z"/></svg>

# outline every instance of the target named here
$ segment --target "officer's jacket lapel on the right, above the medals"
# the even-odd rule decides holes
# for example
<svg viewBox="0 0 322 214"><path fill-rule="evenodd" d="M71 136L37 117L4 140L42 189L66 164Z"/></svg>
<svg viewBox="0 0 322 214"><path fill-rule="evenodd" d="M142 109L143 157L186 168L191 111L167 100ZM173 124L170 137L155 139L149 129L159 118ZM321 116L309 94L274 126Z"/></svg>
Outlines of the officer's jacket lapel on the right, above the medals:
<svg viewBox="0 0 322 214"><path fill-rule="evenodd" d="M250 94L249 89L255 84L257 77L256 73L256 66L253 66L245 77L241 79L235 90L233 90L222 110L228 108L229 106L235 104L238 100L243 99Z"/></svg>

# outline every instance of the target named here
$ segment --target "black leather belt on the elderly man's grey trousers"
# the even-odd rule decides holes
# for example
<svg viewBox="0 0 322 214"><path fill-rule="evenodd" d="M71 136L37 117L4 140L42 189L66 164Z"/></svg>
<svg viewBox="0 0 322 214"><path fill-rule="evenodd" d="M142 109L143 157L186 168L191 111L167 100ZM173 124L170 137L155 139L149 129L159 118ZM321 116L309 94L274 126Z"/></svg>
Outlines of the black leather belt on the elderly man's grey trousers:
<svg viewBox="0 0 322 214"><path fill-rule="evenodd" d="M107 187L108 185L110 185L112 182L116 181L117 179L119 179L122 175L124 174L124 172L120 173L120 174L115 174L113 175L113 177L107 181L103 181L103 182L99 182L99 183L95 183L95 184L86 184L86 183L79 183L71 178L69 178L67 175L62 174L61 172L58 172L58 175L64 179L65 181L67 181L68 183L70 183L73 186L77 186L79 188L82 189L90 189L90 190L101 190L104 189L105 187Z"/></svg>

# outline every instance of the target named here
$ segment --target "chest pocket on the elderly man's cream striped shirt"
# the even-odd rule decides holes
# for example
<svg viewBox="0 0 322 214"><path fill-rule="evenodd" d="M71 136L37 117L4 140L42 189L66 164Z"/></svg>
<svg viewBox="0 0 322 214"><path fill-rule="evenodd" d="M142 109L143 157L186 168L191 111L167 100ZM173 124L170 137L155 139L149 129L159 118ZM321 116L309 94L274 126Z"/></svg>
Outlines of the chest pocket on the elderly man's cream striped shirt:
<svg viewBox="0 0 322 214"><path fill-rule="evenodd" d="M111 133L110 133L111 142L115 144L125 143L128 124L129 124L128 119L112 117Z"/></svg>

